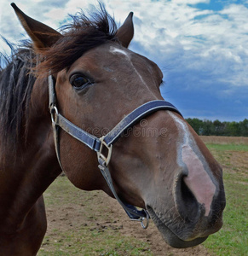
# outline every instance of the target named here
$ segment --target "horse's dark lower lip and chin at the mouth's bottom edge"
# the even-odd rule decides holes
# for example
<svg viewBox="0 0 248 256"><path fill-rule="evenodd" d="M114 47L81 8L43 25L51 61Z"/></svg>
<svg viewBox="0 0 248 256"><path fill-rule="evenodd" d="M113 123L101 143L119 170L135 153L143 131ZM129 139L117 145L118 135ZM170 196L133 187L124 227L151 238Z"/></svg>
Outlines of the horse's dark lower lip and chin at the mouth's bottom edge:
<svg viewBox="0 0 248 256"><path fill-rule="evenodd" d="M208 236L199 237L193 239L191 241L183 241L181 238L176 236L176 234L170 230L158 217L158 215L153 211L152 207L147 206L147 211L150 217L153 219L154 224L156 224L159 232L162 234L164 241L166 241L170 247L175 248L187 248L187 247L194 247L202 243L207 239Z"/></svg>

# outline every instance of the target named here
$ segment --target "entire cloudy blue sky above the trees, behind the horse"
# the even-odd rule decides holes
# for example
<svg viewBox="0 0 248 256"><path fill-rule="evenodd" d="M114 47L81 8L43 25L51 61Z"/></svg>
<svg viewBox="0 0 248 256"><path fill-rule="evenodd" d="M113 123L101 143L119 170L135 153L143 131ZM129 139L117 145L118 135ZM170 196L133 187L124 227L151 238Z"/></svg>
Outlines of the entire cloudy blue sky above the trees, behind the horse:
<svg viewBox="0 0 248 256"><path fill-rule="evenodd" d="M0 35L28 38L0 0ZM162 96L185 118L248 119L248 0L103 0L120 26L134 12L130 49L164 73ZM96 0L16 0L26 15L58 29ZM0 51L9 49L0 39Z"/></svg>

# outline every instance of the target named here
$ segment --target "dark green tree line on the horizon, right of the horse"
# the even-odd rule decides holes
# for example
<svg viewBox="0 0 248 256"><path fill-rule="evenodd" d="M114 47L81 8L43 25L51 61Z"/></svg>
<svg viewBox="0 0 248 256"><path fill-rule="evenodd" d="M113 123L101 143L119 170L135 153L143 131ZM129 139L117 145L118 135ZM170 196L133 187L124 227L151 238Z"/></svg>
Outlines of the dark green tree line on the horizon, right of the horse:
<svg viewBox="0 0 248 256"><path fill-rule="evenodd" d="M198 135L248 137L248 119L240 122L221 122L208 119L186 119Z"/></svg>

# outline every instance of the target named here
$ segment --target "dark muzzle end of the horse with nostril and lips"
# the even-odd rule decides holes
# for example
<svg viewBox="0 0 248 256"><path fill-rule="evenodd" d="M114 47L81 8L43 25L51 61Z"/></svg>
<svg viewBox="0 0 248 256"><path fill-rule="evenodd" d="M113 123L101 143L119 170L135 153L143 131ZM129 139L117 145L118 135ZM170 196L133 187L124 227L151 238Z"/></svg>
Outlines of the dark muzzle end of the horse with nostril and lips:
<svg viewBox="0 0 248 256"><path fill-rule="evenodd" d="M154 224L171 247L193 247L222 228L222 212L225 207L223 184L218 184L211 208L206 213L204 204L193 195L185 182L187 172L178 172L174 180L172 198L153 201L147 211ZM198 191L198 190L197 190ZM206 201L208 200L206 189ZM212 195L211 192L210 196ZM164 205L164 206L163 206Z"/></svg>

